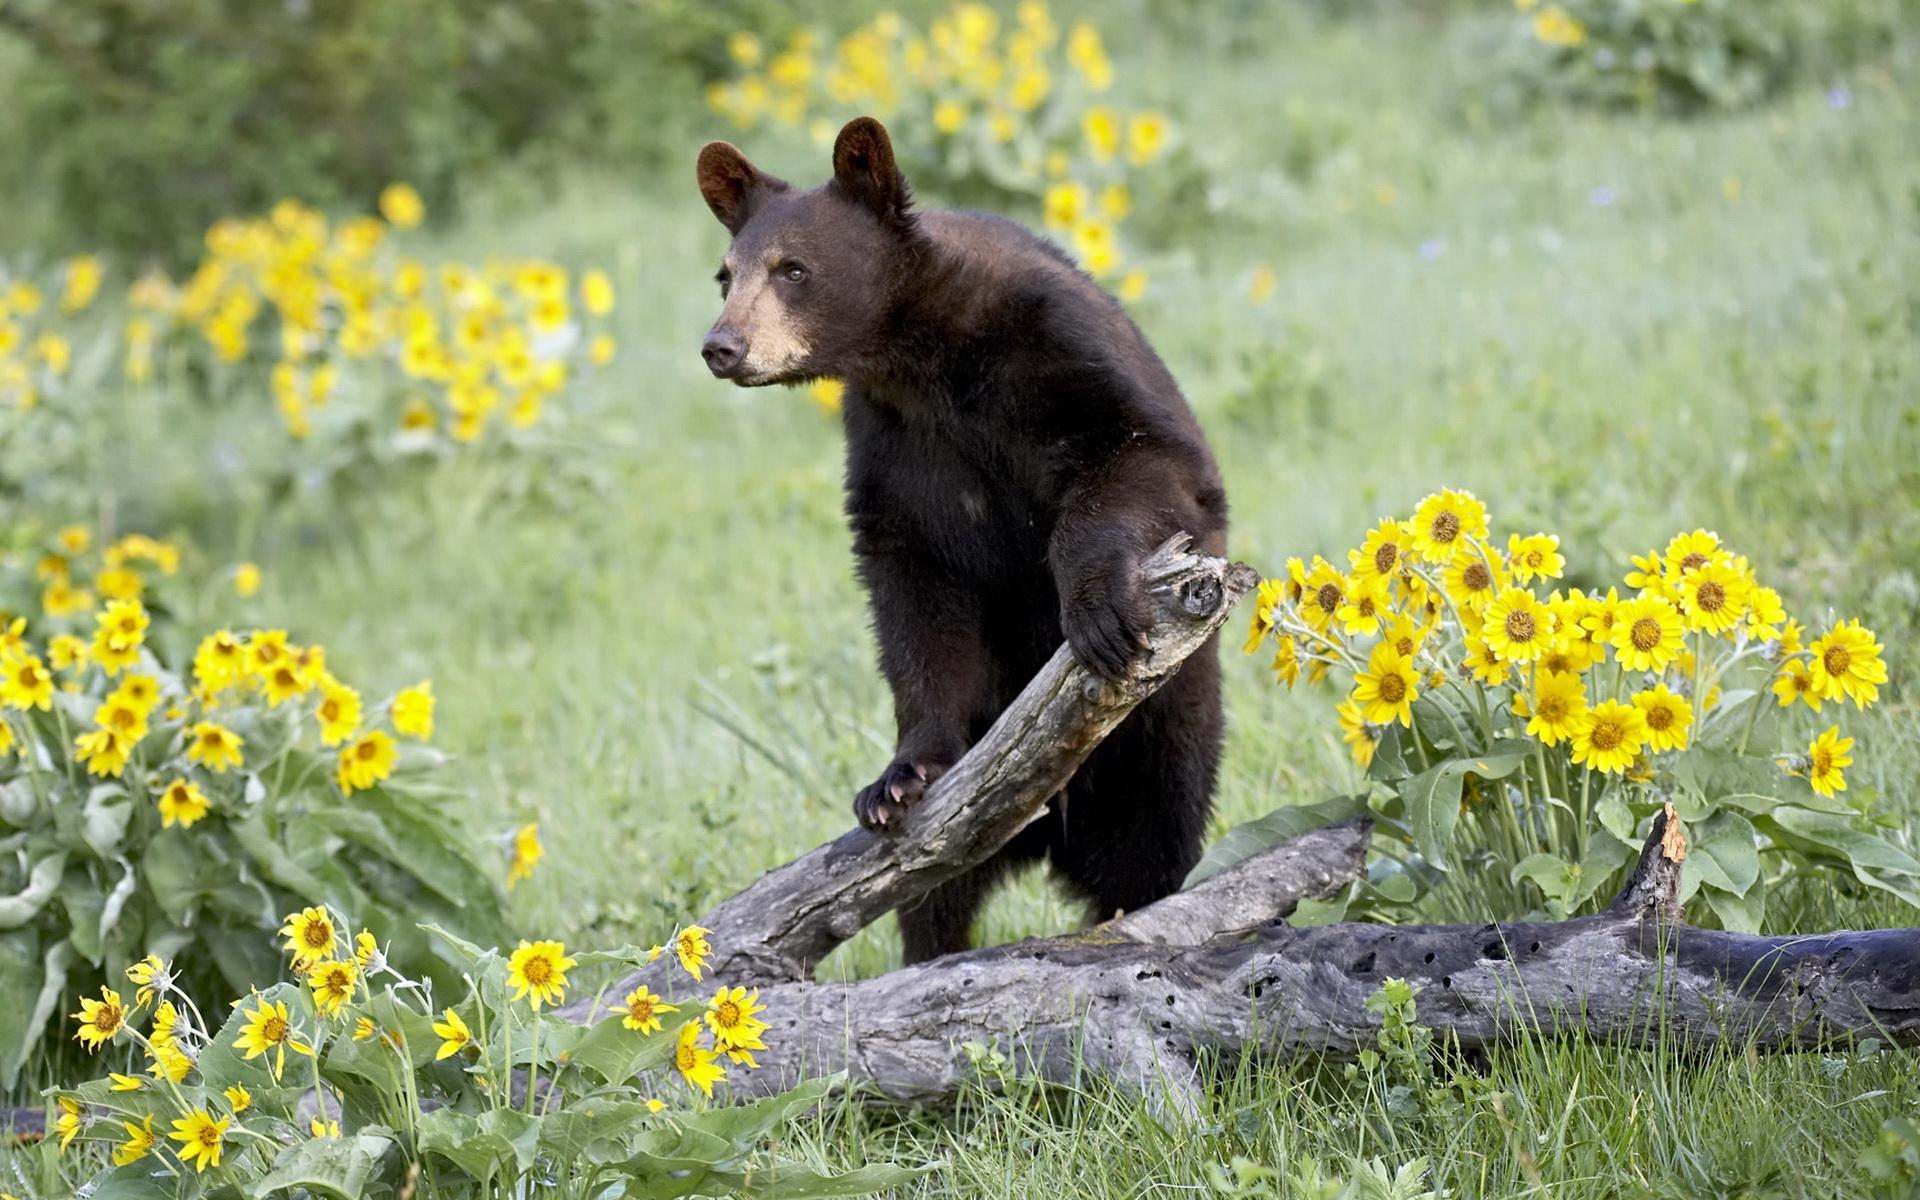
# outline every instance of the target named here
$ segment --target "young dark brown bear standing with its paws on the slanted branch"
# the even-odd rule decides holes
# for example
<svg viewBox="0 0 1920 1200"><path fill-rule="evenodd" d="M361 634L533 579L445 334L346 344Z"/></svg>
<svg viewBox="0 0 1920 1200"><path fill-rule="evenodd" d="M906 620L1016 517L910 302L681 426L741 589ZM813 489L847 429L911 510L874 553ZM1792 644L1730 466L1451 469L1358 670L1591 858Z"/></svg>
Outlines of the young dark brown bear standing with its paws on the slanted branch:
<svg viewBox="0 0 1920 1200"><path fill-rule="evenodd" d="M854 797L870 829L987 732L1060 645L1114 678L1148 624L1135 564L1175 532L1223 553L1227 493L1198 422L1127 313L1002 217L916 211L887 131L851 121L801 192L712 142L733 234L701 355L739 386L845 380L847 518L899 749ZM1202 647L996 858L900 910L906 960L968 947L1008 868L1048 858L1091 916L1177 889L1219 764Z"/></svg>

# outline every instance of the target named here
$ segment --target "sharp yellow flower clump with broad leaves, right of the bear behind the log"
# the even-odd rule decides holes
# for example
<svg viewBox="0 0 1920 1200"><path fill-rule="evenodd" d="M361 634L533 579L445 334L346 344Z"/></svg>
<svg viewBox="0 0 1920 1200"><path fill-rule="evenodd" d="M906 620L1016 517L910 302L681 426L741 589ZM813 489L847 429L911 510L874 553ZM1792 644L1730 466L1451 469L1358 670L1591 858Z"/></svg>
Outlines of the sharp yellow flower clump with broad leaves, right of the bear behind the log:
<svg viewBox="0 0 1920 1200"><path fill-rule="evenodd" d="M1843 797L1853 739L1795 720L1880 699L1870 630L1809 630L1709 530L1632 557L1605 591L1565 574L1557 536L1500 538L1480 499L1446 490L1340 561L1290 559L1260 586L1244 649L1271 649L1286 685L1344 680L1342 739L1427 868L1498 866L1571 910L1674 803L1701 864L1686 891L1728 925L1759 924L1763 854L1920 902L1920 862Z"/></svg>

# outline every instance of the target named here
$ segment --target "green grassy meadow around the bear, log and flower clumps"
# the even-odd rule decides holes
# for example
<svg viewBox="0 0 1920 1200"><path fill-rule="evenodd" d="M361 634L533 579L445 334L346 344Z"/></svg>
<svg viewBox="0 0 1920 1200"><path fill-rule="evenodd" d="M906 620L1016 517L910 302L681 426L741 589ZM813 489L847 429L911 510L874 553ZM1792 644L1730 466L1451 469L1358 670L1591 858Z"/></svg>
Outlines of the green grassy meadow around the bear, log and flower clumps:
<svg viewBox="0 0 1920 1200"><path fill-rule="evenodd" d="M1212 171L1140 217L1158 250L1133 307L1221 459L1233 553L1265 570L1332 555L1442 486L1486 499L1496 528L1559 532L1584 586L1676 530L1718 530L1809 624L1834 609L1885 641L1895 682L1849 720L1853 787L1903 812L1914 847L1920 31L1734 115L1492 115L1473 100L1486 19L1388 10L1275 19L1235 44L1116 42L1125 84L1177 113ZM826 175L820 150L741 140L780 175ZM432 676L463 820L540 822L547 860L513 893L515 924L568 943L657 941L833 837L891 751L837 420L804 392L714 382L697 355L726 234L695 150L659 177L503 175L432 234L614 275L620 357L543 426L561 453L459 455L267 507L200 467L234 436L217 415L129 409L94 463L121 524L261 563L263 611L342 670ZM1261 265L1275 286L1256 300ZM1238 657L1240 630L1217 828L1357 781L1336 697L1275 687ZM1519 914L1442 891L1428 916ZM1807 877L1766 925L1916 916ZM1073 920L1035 876L979 937ZM824 973L897 956L877 925ZM1388 1177L1425 1162L1402 1181L1419 1187L1382 1177L1382 1196L1866 1196L1882 1192L1859 1154L1914 1114L1916 1079L1887 1052L1530 1044L1463 1075L1440 1121L1396 1116L1336 1064L1221 1064L1194 1129L1098 1085L1012 1085L943 1114L833 1108L787 1150L941 1160L910 1192L927 1196L1313 1196L1369 1160ZM1240 1177L1215 1171L1233 1160Z"/></svg>

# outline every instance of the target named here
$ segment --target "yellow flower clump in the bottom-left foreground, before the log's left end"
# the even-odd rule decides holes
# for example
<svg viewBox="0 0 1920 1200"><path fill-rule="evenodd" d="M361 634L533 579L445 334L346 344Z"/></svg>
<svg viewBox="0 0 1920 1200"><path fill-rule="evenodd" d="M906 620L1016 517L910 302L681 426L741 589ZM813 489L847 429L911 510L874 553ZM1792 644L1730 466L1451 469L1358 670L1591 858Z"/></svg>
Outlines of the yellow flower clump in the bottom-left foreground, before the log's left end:
<svg viewBox="0 0 1920 1200"><path fill-rule="evenodd" d="M108 1169L138 1164L142 1179L173 1175L167 1190L182 1194L209 1185L265 1187L269 1175L294 1169L315 1190L359 1194L326 1173L328 1162L348 1158L361 1160L361 1179L430 1171L434 1194L449 1196L497 1194L501 1185L528 1190L536 1160L549 1185L551 1171L597 1183L632 1175L649 1196L712 1194L712 1185L730 1179L689 1171L682 1154L660 1154L662 1137L703 1139L685 1142L699 1144L701 1162L720 1148L726 1158L712 1162L770 1169L747 1162L760 1154L764 1125L747 1129L737 1112L703 1112L691 1094L672 1110L653 1094L678 1075L689 1092L710 1098L728 1075L722 1060L756 1068L755 1052L768 1048L772 1029L758 989L722 985L701 1004L641 985L616 1002L603 996L597 1020L576 1023L555 1012L574 991L576 972L639 968L664 947L568 954L561 941L522 939L503 952L438 925L424 931L459 964L451 996L436 995L432 977L397 968L392 943L365 927L353 933L336 906L301 906L278 929L290 977L252 987L230 1012L215 1010L213 1021L184 985L179 960L146 954L125 970L125 985L83 995L69 1020L90 1054L129 1048L148 1068L52 1089L58 1148L98 1142L111 1148ZM678 931L670 962L680 970L666 968L655 981L668 973L699 981L710 954L705 933ZM828 1087L803 1085L774 1104L799 1108ZM509 1146L501 1131L528 1150ZM77 1158L61 1164L88 1171ZM795 1179L787 1164L778 1169ZM799 1165L793 1171L824 1181Z"/></svg>

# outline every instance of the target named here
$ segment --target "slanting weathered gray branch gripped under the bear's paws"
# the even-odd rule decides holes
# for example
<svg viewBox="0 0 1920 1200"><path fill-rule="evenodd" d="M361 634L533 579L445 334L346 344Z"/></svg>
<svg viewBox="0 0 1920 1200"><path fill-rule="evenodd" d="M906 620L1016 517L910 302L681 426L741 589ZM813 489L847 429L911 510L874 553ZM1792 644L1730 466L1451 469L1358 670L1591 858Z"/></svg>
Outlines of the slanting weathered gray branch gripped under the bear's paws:
<svg viewBox="0 0 1920 1200"><path fill-rule="evenodd" d="M808 979L833 947L985 862L1037 820L1100 739L1206 645L1235 601L1260 582L1254 568L1190 545L1187 536L1171 538L1140 563L1154 626L1125 680L1104 684L1066 647L1054 651L987 735L927 789L900 831L851 829L695 922L710 931L712 977L758 985ZM660 989L672 970L666 958L632 973L609 989L609 1002L639 983ZM566 1014L591 1020L591 1000Z"/></svg>

